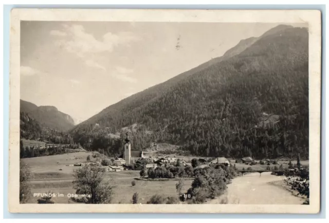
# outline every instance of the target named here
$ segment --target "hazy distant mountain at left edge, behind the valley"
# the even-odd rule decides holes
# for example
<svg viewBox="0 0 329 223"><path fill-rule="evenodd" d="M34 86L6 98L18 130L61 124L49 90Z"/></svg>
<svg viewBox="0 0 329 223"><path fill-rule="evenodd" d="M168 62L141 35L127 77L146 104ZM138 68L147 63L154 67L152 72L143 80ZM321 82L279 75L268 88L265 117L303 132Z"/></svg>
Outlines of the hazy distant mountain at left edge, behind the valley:
<svg viewBox="0 0 329 223"><path fill-rule="evenodd" d="M68 114L58 111L53 106L36 106L33 103L21 100L21 112L28 113L42 127L58 131L68 131L74 127L74 120Z"/></svg>

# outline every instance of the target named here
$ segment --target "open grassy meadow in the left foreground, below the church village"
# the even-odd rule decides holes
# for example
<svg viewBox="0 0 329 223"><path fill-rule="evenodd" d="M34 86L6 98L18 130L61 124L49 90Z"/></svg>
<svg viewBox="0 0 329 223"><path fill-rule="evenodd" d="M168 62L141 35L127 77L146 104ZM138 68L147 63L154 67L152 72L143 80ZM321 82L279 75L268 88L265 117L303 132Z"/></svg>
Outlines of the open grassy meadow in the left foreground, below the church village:
<svg viewBox="0 0 329 223"><path fill-rule="evenodd" d="M79 152L54 156L24 158L24 162L28 164L34 174L31 181L32 193L62 193L64 197L53 197L55 203L67 204L69 198L68 193L75 194L72 188L73 170L81 167L67 167L66 164L81 163L86 157L92 153ZM59 164L57 164L59 162ZM59 170L62 168L63 170ZM113 179L116 186L114 190L113 203L131 204L132 196L135 192L139 194L141 204L146 202L154 194L163 194L166 196L177 196L175 184L177 181L143 181L135 180L136 185L132 187L131 181L139 177L139 171L121 171L107 172L105 179ZM192 180L186 180L183 191L187 191L191 187ZM36 203L38 197L32 197L29 202ZM72 201L70 201L72 202Z"/></svg>

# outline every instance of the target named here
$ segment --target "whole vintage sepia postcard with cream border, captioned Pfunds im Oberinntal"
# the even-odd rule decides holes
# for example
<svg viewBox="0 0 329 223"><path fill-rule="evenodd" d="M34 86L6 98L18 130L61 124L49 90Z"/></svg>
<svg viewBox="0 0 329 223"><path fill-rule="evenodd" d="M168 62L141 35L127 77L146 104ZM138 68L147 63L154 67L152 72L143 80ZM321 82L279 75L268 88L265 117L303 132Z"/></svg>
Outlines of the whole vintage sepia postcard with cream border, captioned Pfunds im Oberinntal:
<svg viewBox="0 0 329 223"><path fill-rule="evenodd" d="M14 9L10 31L10 212L319 212L319 11Z"/></svg>

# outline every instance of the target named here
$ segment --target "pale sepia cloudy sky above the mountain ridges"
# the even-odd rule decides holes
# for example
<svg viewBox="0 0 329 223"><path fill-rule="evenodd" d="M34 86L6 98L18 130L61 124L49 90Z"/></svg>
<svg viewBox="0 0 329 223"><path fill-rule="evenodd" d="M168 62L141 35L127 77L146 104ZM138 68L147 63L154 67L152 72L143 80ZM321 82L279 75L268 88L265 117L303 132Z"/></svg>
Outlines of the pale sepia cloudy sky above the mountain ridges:
<svg viewBox="0 0 329 223"><path fill-rule="evenodd" d="M21 99L80 122L278 24L21 22Z"/></svg>

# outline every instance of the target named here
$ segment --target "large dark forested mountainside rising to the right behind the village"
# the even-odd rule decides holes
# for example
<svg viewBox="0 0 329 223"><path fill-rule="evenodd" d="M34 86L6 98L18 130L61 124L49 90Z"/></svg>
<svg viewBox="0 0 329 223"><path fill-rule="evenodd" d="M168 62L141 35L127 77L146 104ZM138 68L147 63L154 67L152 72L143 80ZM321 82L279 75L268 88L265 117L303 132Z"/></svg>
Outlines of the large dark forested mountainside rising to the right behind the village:
<svg viewBox="0 0 329 223"><path fill-rule="evenodd" d="M236 47L107 107L72 136L87 149L114 153L123 137L108 134L138 123L134 149L158 141L202 156L307 157L307 29L279 26Z"/></svg>

